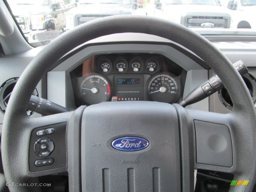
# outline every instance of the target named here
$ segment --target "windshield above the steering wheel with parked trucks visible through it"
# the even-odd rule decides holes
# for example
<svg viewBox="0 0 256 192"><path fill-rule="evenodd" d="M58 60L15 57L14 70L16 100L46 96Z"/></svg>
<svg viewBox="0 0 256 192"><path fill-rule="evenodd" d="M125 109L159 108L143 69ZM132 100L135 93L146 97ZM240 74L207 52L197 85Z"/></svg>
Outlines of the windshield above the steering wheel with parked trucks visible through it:
<svg viewBox="0 0 256 192"><path fill-rule="evenodd" d="M7 0L32 46L47 45L66 31L112 15L145 15L200 34L252 34L256 0ZM36 5L36 6L34 6ZM156 26L157 27L157 26Z"/></svg>

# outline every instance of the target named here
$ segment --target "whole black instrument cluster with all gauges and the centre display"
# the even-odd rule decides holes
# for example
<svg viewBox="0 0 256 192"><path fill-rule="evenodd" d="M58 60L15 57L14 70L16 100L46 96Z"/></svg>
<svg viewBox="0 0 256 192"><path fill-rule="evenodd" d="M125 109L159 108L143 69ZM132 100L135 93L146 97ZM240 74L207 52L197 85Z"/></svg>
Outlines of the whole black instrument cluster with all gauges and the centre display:
<svg viewBox="0 0 256 192"><path fill-rule="evenodd" d="M186 71L159 54L93 56L71 73L76 105L107 101L178 102Z"/></svg>

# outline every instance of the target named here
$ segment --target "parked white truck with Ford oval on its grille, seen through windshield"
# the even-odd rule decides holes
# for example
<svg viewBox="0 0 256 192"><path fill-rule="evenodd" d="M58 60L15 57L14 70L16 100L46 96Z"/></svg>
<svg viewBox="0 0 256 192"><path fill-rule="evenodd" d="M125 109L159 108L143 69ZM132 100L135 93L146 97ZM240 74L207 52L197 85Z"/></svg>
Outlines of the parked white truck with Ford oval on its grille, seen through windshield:
<svg viewBox="0 0 256 192"><path fill-rule="evenodd" d="M190 28L230 28L230 10L217 0L156 0L154 15Z"/></svg>

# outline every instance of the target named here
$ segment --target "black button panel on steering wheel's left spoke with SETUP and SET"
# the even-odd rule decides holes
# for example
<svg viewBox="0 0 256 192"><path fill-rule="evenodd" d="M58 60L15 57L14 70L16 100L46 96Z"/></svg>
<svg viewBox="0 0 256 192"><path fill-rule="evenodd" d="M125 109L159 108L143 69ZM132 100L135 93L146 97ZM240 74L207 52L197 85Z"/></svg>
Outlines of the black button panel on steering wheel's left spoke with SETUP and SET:
<svg viewBox="0 0 256 192"><path fill-rule="evenodd" d="M31 132L29 144L29 170L66 167L67 123L38 127Z"/></svg>

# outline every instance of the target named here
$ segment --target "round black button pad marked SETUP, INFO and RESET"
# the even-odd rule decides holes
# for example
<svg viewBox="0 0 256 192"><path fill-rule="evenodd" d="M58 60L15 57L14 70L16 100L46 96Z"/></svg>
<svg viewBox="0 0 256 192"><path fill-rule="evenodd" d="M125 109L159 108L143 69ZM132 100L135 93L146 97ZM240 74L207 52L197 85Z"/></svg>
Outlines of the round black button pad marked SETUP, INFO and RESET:
<svg viewBox="0 0 256 192"><path fill-rule="evenodd" d="M53 151L54 151L54 142L48 137L40 138L34 144L34 152L39 157L47 157Z"/></svg>

